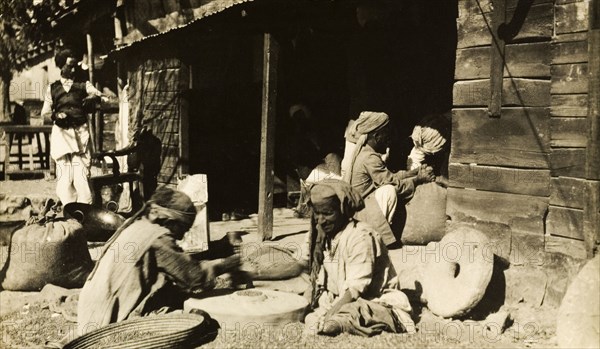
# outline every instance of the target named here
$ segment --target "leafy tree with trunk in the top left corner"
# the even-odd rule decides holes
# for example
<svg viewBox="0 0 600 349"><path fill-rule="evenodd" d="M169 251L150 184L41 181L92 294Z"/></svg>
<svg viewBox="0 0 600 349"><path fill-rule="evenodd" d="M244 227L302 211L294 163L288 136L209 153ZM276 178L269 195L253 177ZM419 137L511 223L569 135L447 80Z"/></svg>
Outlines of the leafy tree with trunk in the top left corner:
<svg viewBox="0 0 600 349"><path fill-rule="evenodd" d="M0 122L10 120L12 76L26 67L22 59L52 38L51 21L59 0L0 0Z"/></svg>

